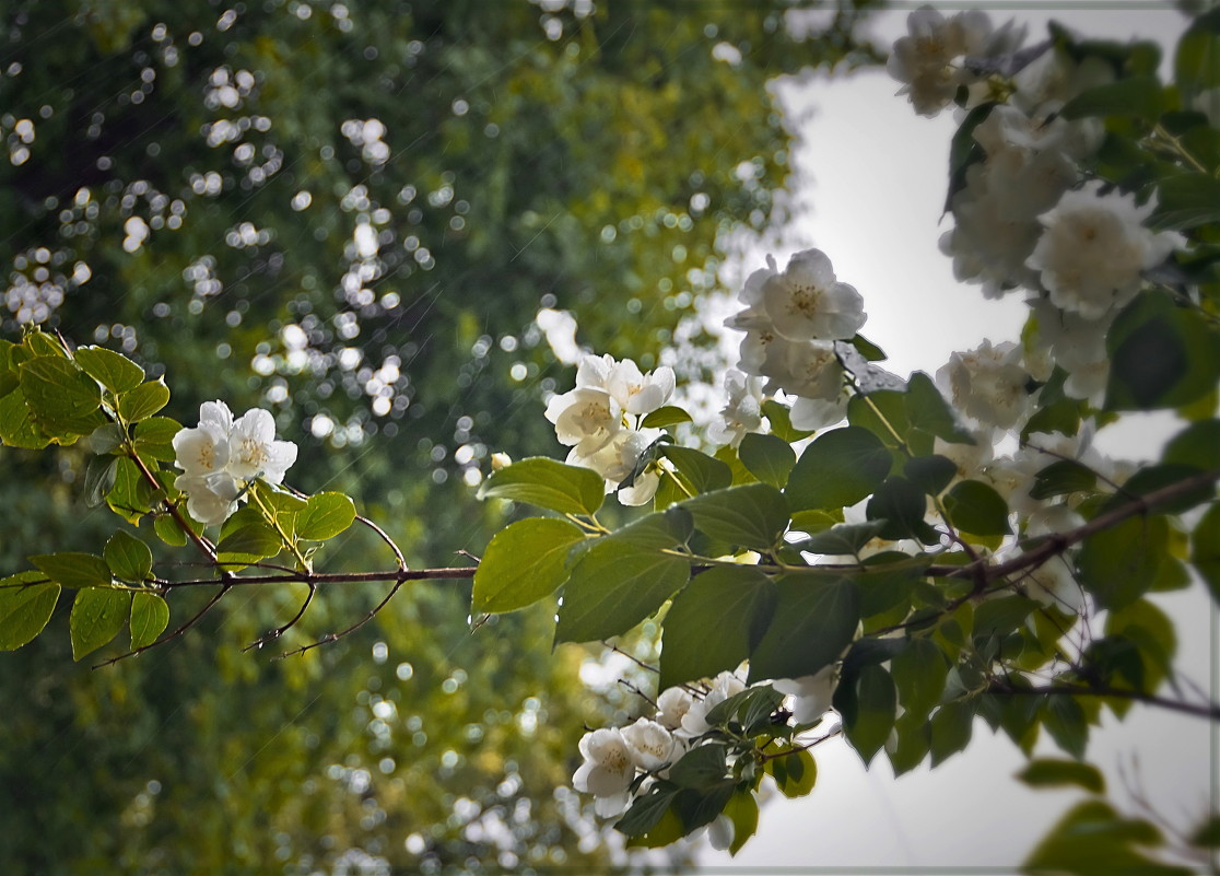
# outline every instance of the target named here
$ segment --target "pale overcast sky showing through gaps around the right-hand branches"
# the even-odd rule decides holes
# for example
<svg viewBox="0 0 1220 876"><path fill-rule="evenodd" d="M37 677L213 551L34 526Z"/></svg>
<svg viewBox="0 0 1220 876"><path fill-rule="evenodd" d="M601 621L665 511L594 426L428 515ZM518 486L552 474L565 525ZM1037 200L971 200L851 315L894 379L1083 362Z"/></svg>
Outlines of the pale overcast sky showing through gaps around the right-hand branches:
<svg viewBox="0 0 1220 876"><path fill-rule="evenodd" d="M1041 9L1036 7L1041 6ZM1014 2L1008 9L1030 23L1028 41L1046 34L1047 4ZM1027 10L1024 11L1022 10ZM909 9L909 7L908 7ZM956 6L960 9L960 5ZM950 10L946 10L947 13ZM1009 12L988 6L999 24ZM1087 33L1127 40L1133 35L1172 44L1186 20L1163 9L1115 11L1105 2L1076 2L1057 20ZM880 45L906 32L906 11L872 23ZM1166 52L1169 56L1171 52ZM784 92L794 113L808 113L806 146L795 161L813 204L797 231L802 242L826 251L838 278L865 299L863 333L889 354L889 370L935 373L954 350L983 338L1016 340L1025 318L1019 298L985 300L978 287L959 284L950 260L937 249L949 220L941 222L947 183L952 112L916 116L898 83L883 71L852 78L820 77ZM789 253L775 254L781 265ZM747 271L761 267L745 266ZM1164 425L1137 422L1116 434L1109 451L1146 456ZM1104 436L1104 432L1103 432ZM1210 604L1200 587L1157 597L1179 625L1179 666L1207 687L1210 666ZM1053 745L1047 754L1065 756ZM870 771L845 744L816 752L819 782L797 802L776 797L762 806L759 833L736 859L705 844L706 872L783 874L893 872L894 869L987 867L1016 872L1046 831L1081 797L1080 792L1032 792L1013 776L1025 763L1005 736L993 737L981 720L966 753L935 771L926 765L894 780L884 756ZM1094 732L1088 759L1109 775L1111 800L1131 806L1120 766L1130 775L1138 761L1144 792L1175 825L1188 826L1204 811L1209 792L1209 728L1200 719L1163 710L1132 710ZM791 869L789 869L791 867Z"/></svg>

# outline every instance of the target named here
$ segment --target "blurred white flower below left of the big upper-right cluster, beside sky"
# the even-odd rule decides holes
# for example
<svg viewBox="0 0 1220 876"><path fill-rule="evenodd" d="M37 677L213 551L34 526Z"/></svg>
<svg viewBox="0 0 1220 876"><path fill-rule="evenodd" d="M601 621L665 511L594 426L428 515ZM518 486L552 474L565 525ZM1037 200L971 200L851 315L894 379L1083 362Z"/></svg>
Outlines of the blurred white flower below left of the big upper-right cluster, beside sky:
<svg viewBox="0 0 1220 876"><path fill-rule="evenodd" d="M1021 366L1021 348L1011 342L992 346L985 340L954 353L936 382L954 407L985 426L1013 428L1030 410L1030 375Z"/></svg>

